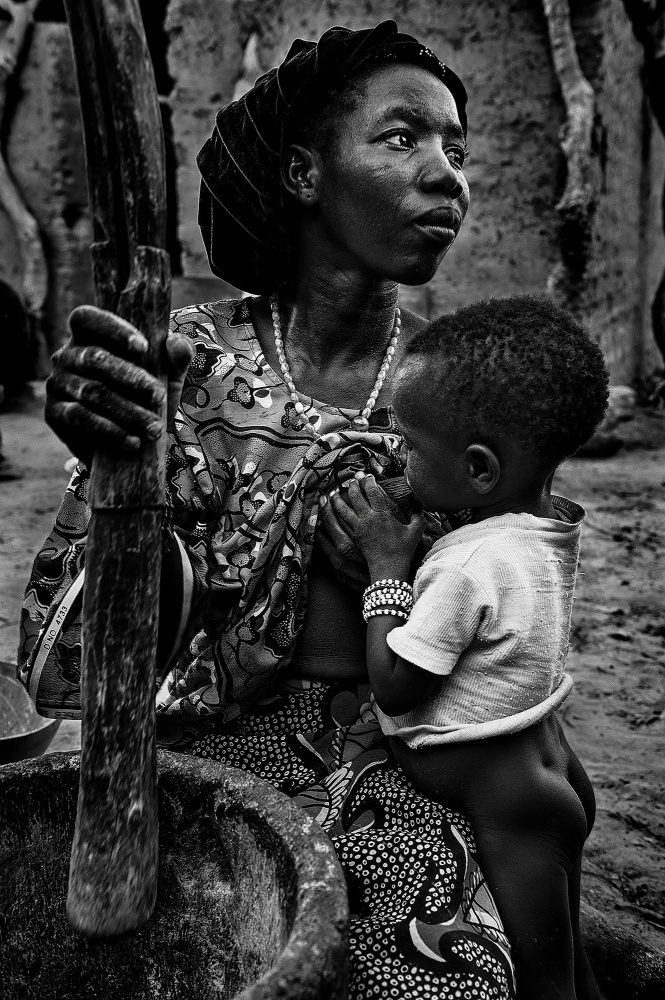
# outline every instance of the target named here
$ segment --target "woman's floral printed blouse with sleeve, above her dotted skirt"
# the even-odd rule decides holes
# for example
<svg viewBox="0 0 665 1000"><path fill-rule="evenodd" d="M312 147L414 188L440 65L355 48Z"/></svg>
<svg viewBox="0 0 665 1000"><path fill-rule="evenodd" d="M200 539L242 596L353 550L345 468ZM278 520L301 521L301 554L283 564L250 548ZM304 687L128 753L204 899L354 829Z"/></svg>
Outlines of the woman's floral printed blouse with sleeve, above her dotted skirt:
<svg viewBox="0 0 665 1000"><path fill-rule="evenodd" d="M247 300L181 309L172 329L195 349L167 454L167 497L194 586L187 642L158 707L232 718L291 657L320 494L359 469L379 479L399 474L399 438L388 410L376 411L372 433L358 434L349 430L356 410L305 396L301 427L261 352ZM70 718L80 714L81 593L69 603L67 595L85 562L87 496L88 471L79 466L34 563L18 655L40 712ZM40 642L60 617L57 642L32 677Z"/></svg>

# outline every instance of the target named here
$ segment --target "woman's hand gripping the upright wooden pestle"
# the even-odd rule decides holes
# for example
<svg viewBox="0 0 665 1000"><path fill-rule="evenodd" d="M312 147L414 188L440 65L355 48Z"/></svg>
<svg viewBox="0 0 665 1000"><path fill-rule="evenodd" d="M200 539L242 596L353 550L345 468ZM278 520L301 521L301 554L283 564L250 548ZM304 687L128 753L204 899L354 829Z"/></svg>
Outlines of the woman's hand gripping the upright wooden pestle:
<svg viewBox="0 0 665 1000"><path fill-rule="evenodd" d="M52 359L46 383L47 424L87 464L95 448L136 454L160 433L162 384L143 367L148 342L136 327L95 306L69 317L70 338ZM192 347L171 335L165 344L167 420L180 402Z"/></svg>

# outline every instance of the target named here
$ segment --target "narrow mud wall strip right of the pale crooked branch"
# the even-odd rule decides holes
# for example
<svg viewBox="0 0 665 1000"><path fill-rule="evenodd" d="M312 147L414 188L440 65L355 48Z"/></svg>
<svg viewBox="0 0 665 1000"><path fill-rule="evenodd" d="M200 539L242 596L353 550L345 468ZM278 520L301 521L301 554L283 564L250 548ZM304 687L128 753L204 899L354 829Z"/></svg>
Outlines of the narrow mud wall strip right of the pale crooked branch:
<svg viewBox="0 0 665 1000"><path fill-rule="evenodd" d="M620 0L574 2L582 69L597 95L602 186L584 312L615 381L657 364L650 303L665 266L664 144L642 93L641 47Z"/></svg>

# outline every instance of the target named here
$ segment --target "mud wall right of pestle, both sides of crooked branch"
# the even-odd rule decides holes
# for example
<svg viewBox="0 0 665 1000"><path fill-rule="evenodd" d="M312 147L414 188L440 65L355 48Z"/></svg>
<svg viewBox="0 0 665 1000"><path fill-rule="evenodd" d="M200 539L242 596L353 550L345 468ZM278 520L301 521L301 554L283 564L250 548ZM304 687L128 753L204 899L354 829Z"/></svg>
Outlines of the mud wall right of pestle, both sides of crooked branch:
<svg viewBox="0 0 665 1000"><path fill-rule="evenodd" d="M573 0L571 8L583 69L598 97L603 168L585 316L621 382L657 361L646 304L664 256L653 211L662 143L657 134L649 139L641 50L620 0ZM470 97L469 215L427 293L405 289L403 300L437 313L484 295L545 290L559 261L555 206L565 180L558 144L564 109L540 0L171 0L167 30L177 81L172 97L185 274L208 273L195 224L196 151L220 95L230 100L237 79L248 74L243 51L252 34L258 39L256 74L281 59L296 35L316 37L339 23L365 27L390 15L450 62Z"/></svg>

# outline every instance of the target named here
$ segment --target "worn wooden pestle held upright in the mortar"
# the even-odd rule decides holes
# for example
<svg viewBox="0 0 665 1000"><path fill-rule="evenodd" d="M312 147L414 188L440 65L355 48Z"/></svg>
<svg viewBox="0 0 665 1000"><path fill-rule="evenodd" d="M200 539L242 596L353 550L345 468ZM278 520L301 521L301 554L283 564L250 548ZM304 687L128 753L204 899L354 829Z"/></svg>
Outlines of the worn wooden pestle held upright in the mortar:
<svg viewBox="0 0 665 1000"><path fill-rule="evenodd" d="M165 254L161 279L158 263L151 261L150 279L136 290L133 309L119 312L132 322L148 310L161 313L166 329ZM142 926L157 893L155 653L164 443L162 435L129 463L98 454L93 464L83 594L81 777L67 896L70 923L88 937Z"/></svg>

